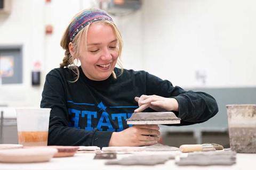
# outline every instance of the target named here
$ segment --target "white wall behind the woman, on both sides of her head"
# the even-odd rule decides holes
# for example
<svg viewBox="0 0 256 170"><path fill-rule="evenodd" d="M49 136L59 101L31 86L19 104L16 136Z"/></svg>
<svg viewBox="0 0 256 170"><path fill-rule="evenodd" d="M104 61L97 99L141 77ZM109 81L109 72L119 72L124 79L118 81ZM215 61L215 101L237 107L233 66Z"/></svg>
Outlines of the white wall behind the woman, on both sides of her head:
<svg viewBox="0 0 256 170"><path fill-rule="evenodd" d="M174 85L256 86L253 0L147 0L140 11L115 17L124 39L124 67L146 70ZM0 104L39 106L44 78L63 58L59 42L69 21L93 0L12 0L0 15L0 45L23 46L22 84L0 85ZM45 35L46 24L53 34ZM42 63L42 86L31 87L33 63ZM195 72L206 75L206 83Z"/></svg>

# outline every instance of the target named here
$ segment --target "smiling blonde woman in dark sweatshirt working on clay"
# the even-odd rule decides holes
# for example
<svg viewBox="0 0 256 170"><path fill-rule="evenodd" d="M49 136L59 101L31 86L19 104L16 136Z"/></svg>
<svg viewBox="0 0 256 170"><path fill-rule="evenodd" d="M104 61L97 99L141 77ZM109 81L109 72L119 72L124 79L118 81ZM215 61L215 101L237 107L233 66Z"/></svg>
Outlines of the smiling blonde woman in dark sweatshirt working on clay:
<svg viewBox="0 0 256 170"><path fill-rule="evenodd" d="M122 38L104 11L78 13L61 46L65 57L46 75L41 101L41 107L52 108L49 145L154 145L159 127L127 125L133 112L173 111L180 125L204 122L218 112L208 94L173 87L145 71L117 69Z"/></svg>

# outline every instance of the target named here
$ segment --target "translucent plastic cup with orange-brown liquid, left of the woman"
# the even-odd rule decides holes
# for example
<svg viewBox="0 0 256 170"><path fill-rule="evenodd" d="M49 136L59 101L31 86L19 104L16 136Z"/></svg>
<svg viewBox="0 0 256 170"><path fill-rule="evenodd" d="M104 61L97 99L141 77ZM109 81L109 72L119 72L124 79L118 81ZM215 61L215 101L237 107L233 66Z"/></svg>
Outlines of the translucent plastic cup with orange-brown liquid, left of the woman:
<svg viewBox="0 0 256 170"><path fill-rule="evenodd" d="M19 144L47 146L51 108L17 108Z"/></svg>

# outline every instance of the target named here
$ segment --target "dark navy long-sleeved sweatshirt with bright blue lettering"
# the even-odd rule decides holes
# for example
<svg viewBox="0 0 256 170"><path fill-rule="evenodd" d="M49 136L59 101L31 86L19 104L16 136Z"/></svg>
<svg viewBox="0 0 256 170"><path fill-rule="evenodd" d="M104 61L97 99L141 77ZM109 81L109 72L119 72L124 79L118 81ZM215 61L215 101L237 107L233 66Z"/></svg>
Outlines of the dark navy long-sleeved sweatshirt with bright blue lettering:
<svg viewBox="0 0 256 170"><path fill-rule="evenodd" d="M138 103L134 97L173 97L179 103L179 125L201 123L217 114L215 99L204 93L185 91L145 71L115 68L117 79L88 79L81 67L79 79L68 68L53 69L46 75L42 108L51 108L48 145L107 147L113 132L129 128L126 119ZM154 112L146 109L145 112Z"/></svg>

